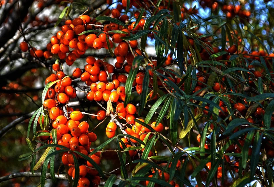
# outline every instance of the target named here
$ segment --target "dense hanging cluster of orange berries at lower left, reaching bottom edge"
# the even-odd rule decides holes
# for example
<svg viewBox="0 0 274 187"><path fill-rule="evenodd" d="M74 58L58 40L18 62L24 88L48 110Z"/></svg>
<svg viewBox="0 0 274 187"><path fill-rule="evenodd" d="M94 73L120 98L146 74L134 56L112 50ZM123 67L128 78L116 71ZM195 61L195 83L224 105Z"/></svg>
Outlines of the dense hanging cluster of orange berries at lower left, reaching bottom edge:
<svg viewBox="0 0 274 187"><path fill-rule="evenodd" d="M45 100L44 107L50 110L50 118L54 120L52 122L52 129L57 129L57 144L65 146L70 149L70 151L62 154L62 163L69 166L68 175L74 178L74 158L82 159L84 164L79 166L79 186L90 186L94 187L100 184L100 177L98 176L98 171L92 169L93 165L84 160L83 157L77 155L72 151L78 151L83 155L89 155L94 149L91 149L91 143L97 140L97 136L93 132L89 132L89 124L85 121L80 122L83 118L83 113L80 111L73 111L72 108L68 107L67 111L70 113L68 116L64 116L64 112L53 105L49 105L50 99ZM54 101L55 102L55 101ZM52 107L52 108L50 108ZM54 112L54 113L53 113ZM43 122L42 118L42 122ZM45 130L45 132L48 132ZM49 140L49 136L40 136L40 140ZM53 137L51 137L49 143L53 142ZM60 150L60 148L56 148ZM73 155L72 155L73 154ZM95 153L89 156L96 164L100 164L100 153ZM81 163L83 163L81 161Z"/></svg>

